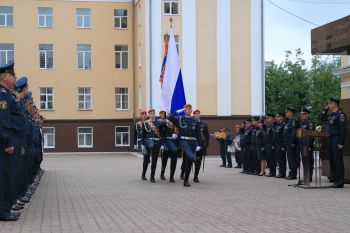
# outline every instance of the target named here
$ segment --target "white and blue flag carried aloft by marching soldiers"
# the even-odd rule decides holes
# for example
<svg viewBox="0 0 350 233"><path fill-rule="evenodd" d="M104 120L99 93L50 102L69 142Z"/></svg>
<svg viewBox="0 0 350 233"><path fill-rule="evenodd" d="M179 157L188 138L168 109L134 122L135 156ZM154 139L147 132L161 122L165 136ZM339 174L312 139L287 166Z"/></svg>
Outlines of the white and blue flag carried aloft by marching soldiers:
<svg viewBox="0 0 350 233"><path fill-rule="evenodd" d="M170 29L168 52L164 56L161 80L163 83L159 108L169 113L182 109L186 104L186 97L173 29Z"/></svg>

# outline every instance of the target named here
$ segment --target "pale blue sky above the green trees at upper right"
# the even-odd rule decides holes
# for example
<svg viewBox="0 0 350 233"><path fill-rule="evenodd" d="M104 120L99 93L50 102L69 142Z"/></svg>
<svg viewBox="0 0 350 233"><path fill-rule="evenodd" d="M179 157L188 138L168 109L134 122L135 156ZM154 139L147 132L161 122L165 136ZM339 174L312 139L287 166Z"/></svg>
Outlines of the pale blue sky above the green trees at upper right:
<svg viewBox="0 0 350 233"><path fill-rule="evenodd" d="M311 64L311 29L307 23L274 6L310 21L324 25L350 14L350 0L264 0L265 60L280 64L285 51L300 48L306 64Z"/></svg>

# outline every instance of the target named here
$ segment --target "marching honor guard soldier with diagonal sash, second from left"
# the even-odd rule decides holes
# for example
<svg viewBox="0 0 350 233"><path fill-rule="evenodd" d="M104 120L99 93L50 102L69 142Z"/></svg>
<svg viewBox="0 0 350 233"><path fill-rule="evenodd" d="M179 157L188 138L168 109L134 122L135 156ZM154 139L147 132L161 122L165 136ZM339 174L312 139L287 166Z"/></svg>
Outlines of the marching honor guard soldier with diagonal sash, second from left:
<svg viewBox="0 0 350 233"><path fill-rule="evenodd" d="M148 110L148 117L149 119L144 123L144 130L142 134L142 145L144 146L143 150L147 151L147 153L144 155L145 159L143 162L142 179L147 179L146 171L150 158L152 157L150 180L152 183L155 183L156 181L154 179L154 175L156 173L159 150L162 145L162 138L159 128L163 126L165 121L156 120L155 110L153 108Z"/></svg>

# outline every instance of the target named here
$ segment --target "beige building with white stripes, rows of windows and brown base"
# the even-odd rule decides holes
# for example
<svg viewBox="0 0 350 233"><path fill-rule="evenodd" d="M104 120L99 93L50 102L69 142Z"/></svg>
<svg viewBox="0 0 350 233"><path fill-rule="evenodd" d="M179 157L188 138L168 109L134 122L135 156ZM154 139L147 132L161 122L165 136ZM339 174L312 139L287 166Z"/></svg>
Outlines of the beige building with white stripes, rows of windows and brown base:
<svg viewBox="0 0 350 233"><path fill-rule="evenodd" d="M262 0L0 2L0 63L29 78L47 151L130 149L139 110L159 110L170 18L187 102L212 131L263 114Z"/></svg>

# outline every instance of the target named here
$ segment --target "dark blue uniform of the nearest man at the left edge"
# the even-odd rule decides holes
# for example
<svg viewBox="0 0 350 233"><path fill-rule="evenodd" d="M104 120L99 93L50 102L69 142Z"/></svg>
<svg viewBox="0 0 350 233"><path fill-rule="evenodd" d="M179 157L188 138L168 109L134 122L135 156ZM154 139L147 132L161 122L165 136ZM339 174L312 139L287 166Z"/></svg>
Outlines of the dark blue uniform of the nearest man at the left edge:
<svg viewBox="0 0 350 233"><path fill-rule="evenodd" d="M0 85L0 217L10 212L18 193L20 158L26 122L12 93ZM14 153L5 149L14 146Z"/></svg>

